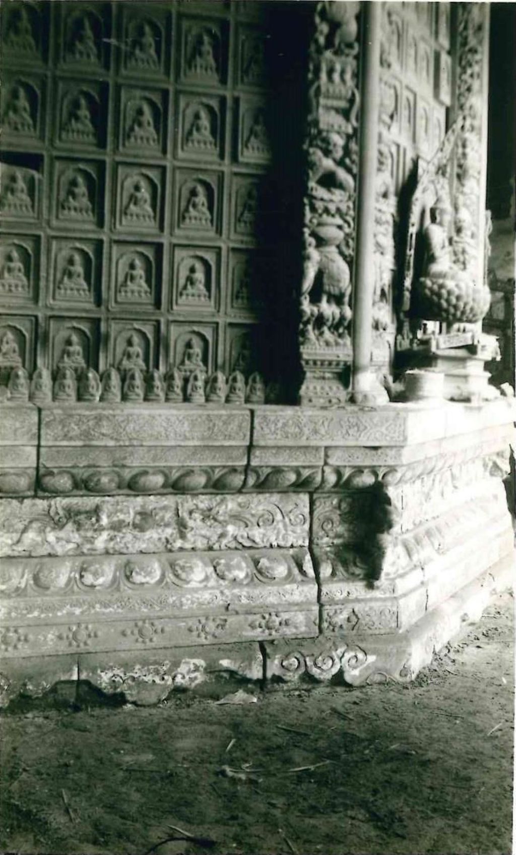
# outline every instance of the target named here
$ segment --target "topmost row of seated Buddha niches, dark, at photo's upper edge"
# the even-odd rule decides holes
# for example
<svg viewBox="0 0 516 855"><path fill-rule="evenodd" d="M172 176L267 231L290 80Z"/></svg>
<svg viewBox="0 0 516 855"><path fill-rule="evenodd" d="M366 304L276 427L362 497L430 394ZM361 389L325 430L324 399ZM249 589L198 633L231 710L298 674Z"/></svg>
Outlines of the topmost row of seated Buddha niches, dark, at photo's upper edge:
<svg viewBox="0 0 516 855"><path fill-rule="evenodd" d="M116 3L113 10L108 3L55 5L57 9L44 3L6 4L2 30L7 62L52 62L67 71L97 74L114 65L121 75L157 80L172 76L202 86L226 86L233 67L235 85L267 85L267 32L251 21L233 23L224 3L203 5L208 13L225 12L225 18L179 14L175 21L172 12L177 3L161 11L149 3ZM257 3L235 5L250 18L260 15ZM234 63L229 62L231 27L236 30ZM49 50L52 41L55 50Z"/></svg>

